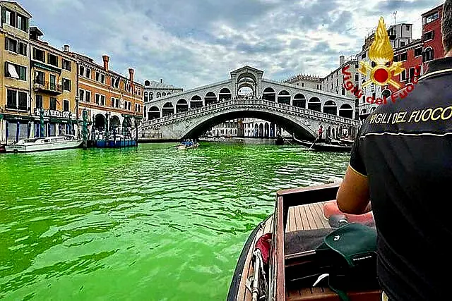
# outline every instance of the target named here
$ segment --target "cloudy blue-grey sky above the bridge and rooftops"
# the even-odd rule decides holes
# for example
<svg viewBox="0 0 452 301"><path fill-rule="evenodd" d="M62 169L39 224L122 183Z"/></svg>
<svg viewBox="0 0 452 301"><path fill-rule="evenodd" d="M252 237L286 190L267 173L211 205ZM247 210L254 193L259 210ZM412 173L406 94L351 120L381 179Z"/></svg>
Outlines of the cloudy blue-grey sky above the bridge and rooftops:
<svg viewBox="0 0 452 301"><path fill-rule="evenodd" d="M19 0L32 25L54 47L73 51L136 80L188 90L226 80L244 65L283 80L297 73L325 76L340 55L359 52L380 16L386 25L412 23L436 0Z"/></svg>

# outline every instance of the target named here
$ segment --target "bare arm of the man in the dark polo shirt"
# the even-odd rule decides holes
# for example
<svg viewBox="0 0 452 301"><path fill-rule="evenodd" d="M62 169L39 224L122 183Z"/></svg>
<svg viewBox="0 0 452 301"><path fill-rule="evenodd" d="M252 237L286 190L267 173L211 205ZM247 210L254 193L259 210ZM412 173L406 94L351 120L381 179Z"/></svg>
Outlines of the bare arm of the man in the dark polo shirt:
<svg viewBox="0 0 452 301"><path fill-rule="evenodd" d="M371 210L369 202L369 183L367 176L355 171L350 165L340 184L336 196L340 211L347 214L364 214Z"/></svg>

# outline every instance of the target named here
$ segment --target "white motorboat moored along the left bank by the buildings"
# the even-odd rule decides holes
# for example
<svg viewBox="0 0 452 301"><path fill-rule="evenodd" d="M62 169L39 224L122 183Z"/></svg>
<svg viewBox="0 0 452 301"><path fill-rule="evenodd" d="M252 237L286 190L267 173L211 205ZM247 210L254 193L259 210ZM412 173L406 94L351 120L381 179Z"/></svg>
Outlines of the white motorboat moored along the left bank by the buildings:
<svg viewBox="0 0 452 301"><path fill-rule="evenodd" d="M19 142L6 145L6 152L40 152L54 149L71 149L79 147L83 140L73 135L54 137L40 137L19 140Z"/></svg>

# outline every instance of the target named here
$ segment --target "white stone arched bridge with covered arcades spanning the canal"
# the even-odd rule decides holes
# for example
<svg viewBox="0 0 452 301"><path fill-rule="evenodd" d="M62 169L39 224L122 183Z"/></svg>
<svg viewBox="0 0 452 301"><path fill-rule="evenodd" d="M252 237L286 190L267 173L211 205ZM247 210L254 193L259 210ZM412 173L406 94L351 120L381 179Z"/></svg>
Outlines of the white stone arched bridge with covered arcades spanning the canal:
<svg viewBox="0 0 452 301"><path fill-rule="evenodd" d="M139 129L144 139L195 138L214 125L235 118L259 118L285 128L297 137L316 137L320 125L328 133L347 129L355 133L352 98L263 78L263 71L245 66L231 78L145 103ZM242 87L249 99L239 99Z"/></svg>

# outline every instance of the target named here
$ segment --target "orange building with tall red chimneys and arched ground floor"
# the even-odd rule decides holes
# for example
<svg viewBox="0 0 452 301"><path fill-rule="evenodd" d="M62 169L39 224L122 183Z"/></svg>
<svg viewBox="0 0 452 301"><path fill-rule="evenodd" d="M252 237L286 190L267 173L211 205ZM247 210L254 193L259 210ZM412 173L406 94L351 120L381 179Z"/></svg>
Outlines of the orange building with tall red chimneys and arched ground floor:
<svg viewBox="0 0 452 301"><path fill-rule="evenodd" d="M143 119L143 85L129 77L109 70L109 56L102 56L103 65L88 56L67 52L78 61L78 116L87 112L88 130L133 133Z"/></svg>

